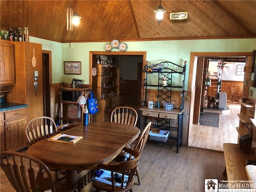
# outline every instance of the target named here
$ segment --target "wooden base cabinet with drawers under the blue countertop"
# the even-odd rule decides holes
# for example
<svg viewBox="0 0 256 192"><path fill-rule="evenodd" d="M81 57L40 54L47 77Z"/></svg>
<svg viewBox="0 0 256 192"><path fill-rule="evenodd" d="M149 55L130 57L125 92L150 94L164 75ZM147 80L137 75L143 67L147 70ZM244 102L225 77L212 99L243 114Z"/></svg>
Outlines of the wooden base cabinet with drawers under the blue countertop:
<svg viewBox="0 0 256 192"><path fill-rule="evenodd" d="M1 152L26 148L27 108L3 111L0 117L4 117L0 118Z"/></svg>

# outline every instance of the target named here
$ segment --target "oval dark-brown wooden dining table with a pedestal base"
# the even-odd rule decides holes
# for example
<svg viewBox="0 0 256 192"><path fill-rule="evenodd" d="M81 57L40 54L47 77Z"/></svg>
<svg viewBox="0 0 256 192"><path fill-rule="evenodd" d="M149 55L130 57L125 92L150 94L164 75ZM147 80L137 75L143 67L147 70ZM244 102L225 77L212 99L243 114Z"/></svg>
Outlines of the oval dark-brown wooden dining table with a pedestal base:
<svg viewBox="0 0 256 192"><path fill-rule="evenodd" d="M114 122L90 122L88 126L78 125L61 133L83 138L74 144L44 139L31 145L27 152L48 167L66 170L66 180L73 183L77 171L92 170L113 160L138 138L140 129Z"/></svg>

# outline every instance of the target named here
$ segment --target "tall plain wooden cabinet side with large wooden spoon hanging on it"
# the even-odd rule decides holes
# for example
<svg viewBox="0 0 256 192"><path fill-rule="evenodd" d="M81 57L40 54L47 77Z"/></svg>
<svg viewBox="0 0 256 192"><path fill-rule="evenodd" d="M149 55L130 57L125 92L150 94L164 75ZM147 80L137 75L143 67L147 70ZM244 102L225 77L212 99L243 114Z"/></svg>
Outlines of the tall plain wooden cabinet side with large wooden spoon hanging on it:
<svg viewBox="0 0 256 192"><path fill-rule="evenodd" d="M28 120L43 116L43 66L42 44L32 42L12 42L15 48L16 84L6 94L6 102L27 104ZM34 49L34 54L33 54ZM32 58L36 58L36 66L32 66ZM34 86L34 73L38 72L37 91Z"/></svg>

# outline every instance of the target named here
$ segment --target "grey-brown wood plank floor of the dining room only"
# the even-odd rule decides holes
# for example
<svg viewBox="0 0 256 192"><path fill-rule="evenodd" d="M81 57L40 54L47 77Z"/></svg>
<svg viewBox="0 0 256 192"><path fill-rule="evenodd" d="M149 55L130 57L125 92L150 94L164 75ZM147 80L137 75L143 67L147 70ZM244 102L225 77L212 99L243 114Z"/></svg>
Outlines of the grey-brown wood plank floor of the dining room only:
<svg viewBox="0 0 256 192"><path fill-rule="evenodd" d="M131 146L133 147L133 146ZM135 177L134 192L202 192L205 179L226 180L222 152L148 141L140 156L139 170L142 186ZM0 171L0 191L14 192L4 172ZM90 192L94 192L91 189ZM81 192L87 192L86 188Z"/></svg>

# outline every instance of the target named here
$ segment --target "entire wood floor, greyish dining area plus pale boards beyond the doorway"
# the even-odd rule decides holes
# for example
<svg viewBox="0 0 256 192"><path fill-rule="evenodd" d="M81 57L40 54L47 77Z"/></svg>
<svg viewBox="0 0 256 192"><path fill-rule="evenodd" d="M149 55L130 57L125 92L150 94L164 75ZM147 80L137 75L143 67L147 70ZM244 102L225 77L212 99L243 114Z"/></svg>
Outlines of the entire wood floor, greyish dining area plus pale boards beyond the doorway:
<svg viewBox="0 0 256 192"><path fill-rule="evenodd" d="M176 153L175 146L148 141L138 166L142 186L138 186L135 177L133 191L199 192L204 191L205 179L226 180L222 175L225 168L224 154L220 151L223 151L223 142L236 143L235 127L238 126L237 113L240 112L239 104L227 105L230 113L220 114L219 128L193 126L190 130L190 147L183 144L179 153ZM0 191L14 192L2 169ZM81 191L87 192L87 189Z"/></svg>

